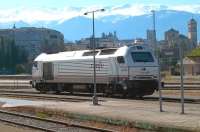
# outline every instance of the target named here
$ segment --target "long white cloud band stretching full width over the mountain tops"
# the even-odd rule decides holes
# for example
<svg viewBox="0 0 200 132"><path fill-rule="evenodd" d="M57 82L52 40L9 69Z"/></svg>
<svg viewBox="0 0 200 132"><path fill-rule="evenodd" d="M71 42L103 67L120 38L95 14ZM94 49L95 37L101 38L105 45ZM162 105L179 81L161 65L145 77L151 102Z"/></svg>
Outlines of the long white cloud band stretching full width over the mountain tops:
<svg viewBox="0 0 200 132"><path fill-rule="evenodd" d="M18 7L15 9L0 9L0 22L16 22L24 21L27 23L34 23L37 21L58 21L63 22L67 19L71 19L77 16L83 16L83 13L93 9L103 8L102 6L91 6L88 8L26 8ZM120 15L120 16L139 16L144 14L150 14L151 10L178 10L187 11L191 13L200 14L200 4L194 5L145 5L145 4L128 4L118 5L113 7L106 7L106 11L103 13L96 13L96 18L101 18L109 15ZM91 18L92 15L85 17Z"/></svg>

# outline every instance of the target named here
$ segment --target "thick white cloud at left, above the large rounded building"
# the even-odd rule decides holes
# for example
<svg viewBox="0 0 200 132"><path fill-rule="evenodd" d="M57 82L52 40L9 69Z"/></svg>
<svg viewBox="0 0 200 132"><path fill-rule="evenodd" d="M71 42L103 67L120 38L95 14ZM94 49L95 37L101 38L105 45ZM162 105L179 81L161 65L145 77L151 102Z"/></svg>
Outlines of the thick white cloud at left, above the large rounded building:
<svg viewBox="0 0 200 132"><path fill-rule="evenodd" d="M79 12L75 9L38 9L17 8L0 10L0 22L24 21L32 23L35 21L53 21L70 19L77 16Z"/></svg>

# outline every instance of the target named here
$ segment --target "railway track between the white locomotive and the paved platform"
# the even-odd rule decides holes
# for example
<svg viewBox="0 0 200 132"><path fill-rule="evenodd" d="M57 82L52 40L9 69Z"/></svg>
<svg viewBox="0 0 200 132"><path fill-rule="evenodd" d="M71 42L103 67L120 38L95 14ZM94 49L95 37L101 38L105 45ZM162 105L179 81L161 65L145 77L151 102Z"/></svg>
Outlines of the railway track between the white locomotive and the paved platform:
<svg viewBox="0 0 200 132"><path fill-rule="evenodd" d="M30 94L30 93L1 93L0 96L5 97L14 97L14 98L26 98L26 99L38 99L38 100L53 100L53 101L66 101L66 102L84 102L84 101L91 101L91 97L88 96L67 96L67 95L52 95L52 94L42 94L38 95L38 93ZM63 97L64 96L64 97ZM107 100L118 100L119 98L107 98L104 97L103 99L99 99L99 101L107 101ZM121 99L121 98L120 98ZM129 98L129 100L144 100L144 101L158 101L158 96L144 96L143 98ZM164 102L175 102L179 103L180 98L175 97L162 97ZM191 104L200 104L200 98L185 98L185 103Z"/></svg>

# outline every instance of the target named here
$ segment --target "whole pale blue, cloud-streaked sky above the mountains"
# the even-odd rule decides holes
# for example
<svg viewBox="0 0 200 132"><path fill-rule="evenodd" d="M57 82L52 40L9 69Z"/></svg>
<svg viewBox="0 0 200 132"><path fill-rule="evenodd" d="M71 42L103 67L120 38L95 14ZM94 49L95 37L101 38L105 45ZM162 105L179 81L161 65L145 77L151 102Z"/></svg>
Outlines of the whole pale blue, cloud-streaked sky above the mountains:
<svg viewBox="0 0 200 132"><path fill-rule="evenodd" d="M179 10L200 14L200 0L0 0L0 23L63 22L98 8L107 15L138 16L151 10ZM87 16L91 17L91 16Z"/></svg>

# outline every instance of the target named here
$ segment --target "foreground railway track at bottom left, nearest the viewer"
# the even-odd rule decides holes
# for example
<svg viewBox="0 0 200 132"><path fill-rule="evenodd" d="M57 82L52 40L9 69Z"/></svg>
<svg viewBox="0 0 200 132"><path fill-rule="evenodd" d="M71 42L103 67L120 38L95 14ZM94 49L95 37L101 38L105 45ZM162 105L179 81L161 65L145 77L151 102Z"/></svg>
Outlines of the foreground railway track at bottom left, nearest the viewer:
<svg viewBox="0 0 200 132"><path fill-rule="evenodd" d="M109 129L72 124L69 122L63 122L52 119L44 119L36 116L30 116L5 110L0 110L0 121L47 132L114 132L113 130Z"/></svg>

